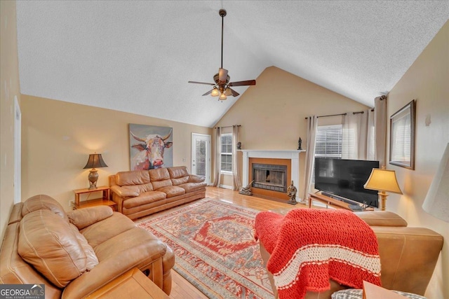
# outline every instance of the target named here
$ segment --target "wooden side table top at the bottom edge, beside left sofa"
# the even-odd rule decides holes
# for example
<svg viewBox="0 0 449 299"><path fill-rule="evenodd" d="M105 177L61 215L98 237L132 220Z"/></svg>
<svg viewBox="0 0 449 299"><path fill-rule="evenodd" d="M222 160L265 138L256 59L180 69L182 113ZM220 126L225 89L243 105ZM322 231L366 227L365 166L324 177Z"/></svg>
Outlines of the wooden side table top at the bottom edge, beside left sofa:
<svg viewBox="0 0 449 299"><path fill-rule="evenodd" d="M129 270L86 298L170 299L138 268Z"/></svg>

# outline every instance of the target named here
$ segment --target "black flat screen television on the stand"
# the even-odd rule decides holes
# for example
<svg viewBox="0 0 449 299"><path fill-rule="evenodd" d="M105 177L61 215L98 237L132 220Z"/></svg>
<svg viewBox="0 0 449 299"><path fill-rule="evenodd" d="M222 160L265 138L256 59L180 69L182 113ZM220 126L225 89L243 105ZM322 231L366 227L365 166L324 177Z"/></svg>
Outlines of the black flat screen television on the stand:
<svg viewBox="0 0 449 299"><path fill-rule="evenodd" d="M315 188L326 195L379 207L376 190L363 188L379 161L315 158Z"/></svg>

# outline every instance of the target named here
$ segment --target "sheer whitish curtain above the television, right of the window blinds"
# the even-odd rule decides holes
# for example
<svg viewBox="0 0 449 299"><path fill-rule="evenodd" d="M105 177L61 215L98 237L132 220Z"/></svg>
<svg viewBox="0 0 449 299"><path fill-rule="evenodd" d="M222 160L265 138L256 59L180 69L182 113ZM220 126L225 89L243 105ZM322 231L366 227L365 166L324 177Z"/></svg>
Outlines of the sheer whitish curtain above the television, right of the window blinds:
<svg viewBox="0 0 449 299"><path fill-rule="evenodd" d="M373 159L374 116L370 110L349 112L343 120L342 158L353 160Z"/></svg>

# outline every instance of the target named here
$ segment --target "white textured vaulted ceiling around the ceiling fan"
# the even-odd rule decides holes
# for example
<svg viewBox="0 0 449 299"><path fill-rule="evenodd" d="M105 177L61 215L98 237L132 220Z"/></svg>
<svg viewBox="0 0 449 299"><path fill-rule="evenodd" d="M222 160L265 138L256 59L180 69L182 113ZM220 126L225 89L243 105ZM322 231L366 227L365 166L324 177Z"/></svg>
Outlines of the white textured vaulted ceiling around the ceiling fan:
<svg viewBox="0 0 449 299"><path fill-rule="evenodd" d="M239 97L187 81L220 67L220 8L231 81L275 66L368 106L449 18L449 1L17 1L21 92L212 127Z"/></svg>

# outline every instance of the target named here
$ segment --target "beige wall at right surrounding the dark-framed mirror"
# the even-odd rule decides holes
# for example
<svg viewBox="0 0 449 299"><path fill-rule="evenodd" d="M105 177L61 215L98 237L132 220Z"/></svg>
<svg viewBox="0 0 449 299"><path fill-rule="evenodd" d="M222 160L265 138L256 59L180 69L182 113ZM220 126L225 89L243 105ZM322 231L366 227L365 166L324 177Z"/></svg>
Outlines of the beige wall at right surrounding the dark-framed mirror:
<svg viewBox="0 0 449 299"><path fill-rule="evenodd" d="M396 170L403 195L391 194L387 209L444 237L443 253L427 288L427 298L449 298L449 224L422 209L431 180L449 142L449 22L389 92L388 115L416 99L415 170ZM446 182L449 183L449 182ZM448 200L448 198L446 198Z"/></svg>

